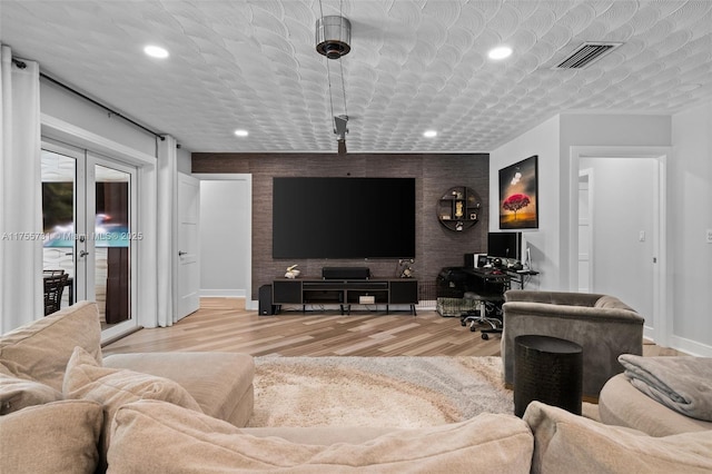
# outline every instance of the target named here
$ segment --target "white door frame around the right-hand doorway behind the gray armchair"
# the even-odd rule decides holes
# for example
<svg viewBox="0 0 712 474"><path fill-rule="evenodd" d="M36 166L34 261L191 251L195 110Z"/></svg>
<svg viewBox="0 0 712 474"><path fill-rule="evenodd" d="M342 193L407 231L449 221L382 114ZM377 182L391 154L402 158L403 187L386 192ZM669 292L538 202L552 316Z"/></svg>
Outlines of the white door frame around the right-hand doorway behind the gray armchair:
<svg viewBox="0 0 712 474"><path fill-rule="evenodd" d="M653 339L657 345L669 344L669 330L672 326L672 288L668 282L671 266L668 259L670 254L666 236L668 229L668 159L672 156L672 147L581 147L570 148L570 203L578 199L578 168L582 158L652 158L657 161L656 189L657 211L653 216L653 229L655 241L655 264L653 265L653 327L645 328L645 337ZM568 271L571 290L578 287L578 206L568 206L570 240L568 240ZM593 245L593 243L592 243ZM670 254L672 255L672 254Z"/></svg>

